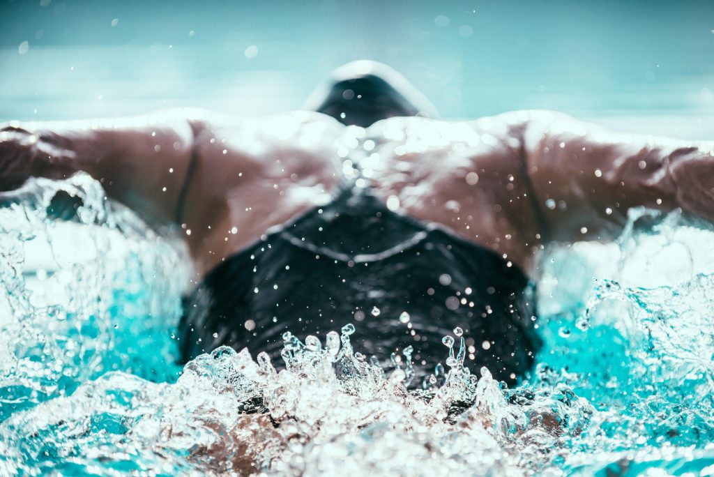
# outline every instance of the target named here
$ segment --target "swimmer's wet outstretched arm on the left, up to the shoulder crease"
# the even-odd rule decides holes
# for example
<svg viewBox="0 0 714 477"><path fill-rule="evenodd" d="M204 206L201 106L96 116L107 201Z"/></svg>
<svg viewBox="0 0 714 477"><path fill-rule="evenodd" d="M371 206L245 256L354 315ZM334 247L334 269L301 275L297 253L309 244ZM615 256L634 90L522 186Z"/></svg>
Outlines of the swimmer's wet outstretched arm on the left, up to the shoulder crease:
<svg viewBox="0 0 714 477"><path fill-rule="evenodd" d="M0 190L31 176L85 171L108 196L153 224L169 224L191 161L196 111L135 118L0 124Z"/></svg>

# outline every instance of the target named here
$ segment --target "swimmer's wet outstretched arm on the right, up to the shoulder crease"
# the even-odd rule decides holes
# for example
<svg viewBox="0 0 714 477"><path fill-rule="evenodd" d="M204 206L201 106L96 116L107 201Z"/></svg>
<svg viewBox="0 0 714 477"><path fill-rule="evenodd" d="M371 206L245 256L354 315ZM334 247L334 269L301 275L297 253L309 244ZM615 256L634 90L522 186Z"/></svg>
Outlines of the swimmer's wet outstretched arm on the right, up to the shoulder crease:
<svg viewBox="0 0 714 477"><path fill-rule="evenodd" d="M553 240L610 239L628 209L681 208L714 221L714 143L619 134L530 111L524 156Z"/></svg>

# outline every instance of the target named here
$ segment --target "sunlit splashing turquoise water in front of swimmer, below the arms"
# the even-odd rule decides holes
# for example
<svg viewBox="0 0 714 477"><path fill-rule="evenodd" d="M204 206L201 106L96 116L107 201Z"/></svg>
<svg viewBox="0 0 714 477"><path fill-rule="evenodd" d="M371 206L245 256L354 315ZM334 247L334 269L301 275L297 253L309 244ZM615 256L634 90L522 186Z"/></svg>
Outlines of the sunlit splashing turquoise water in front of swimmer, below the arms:
<svg viewBox="0 0 714 477"><path fill-rule="evenodd" d="M47 216L58 189L83 225ZM456 330L422 385L349 326L182 370L185 254L103 195L80 175L3 199L0 475L714 474L708 226L638 211L615 243L553 247L533 376L477 381Z"/></svg>

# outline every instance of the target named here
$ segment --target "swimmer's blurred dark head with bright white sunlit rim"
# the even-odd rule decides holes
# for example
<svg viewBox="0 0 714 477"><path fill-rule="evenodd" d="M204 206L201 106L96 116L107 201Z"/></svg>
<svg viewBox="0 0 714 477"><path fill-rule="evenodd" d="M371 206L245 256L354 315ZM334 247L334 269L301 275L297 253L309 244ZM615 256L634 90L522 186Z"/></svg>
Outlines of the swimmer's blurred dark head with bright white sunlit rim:
<svg viewBox="0 0 714 477"><path fill-rule="evenodd" d="M436 117L436 109L401 74L368 60L333 71L310 96L305 109L362 127L395 116Z"/></svg>

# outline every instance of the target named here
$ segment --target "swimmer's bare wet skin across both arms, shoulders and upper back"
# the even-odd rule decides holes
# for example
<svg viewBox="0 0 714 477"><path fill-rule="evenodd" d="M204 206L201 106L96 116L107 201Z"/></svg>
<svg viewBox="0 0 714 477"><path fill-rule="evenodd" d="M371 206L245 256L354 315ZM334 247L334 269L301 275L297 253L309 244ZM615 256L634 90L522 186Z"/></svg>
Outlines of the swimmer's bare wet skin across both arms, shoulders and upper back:
<svg viewBox="0 0 714 477"><path fill-rule="evenodd" d="M393 196L404 213L528 272L546 242L608 239L633 206L714 219L712 150L615 134L549 111L460 122L396 117L361 129L314 112L236 120L182 109L5 124L0 187L86 171L150 224L179 230L198 281L271 228L328 203L349 159L361 163L365 184L383 201ZM176 223L192 154L196 167Z"/></svg>

